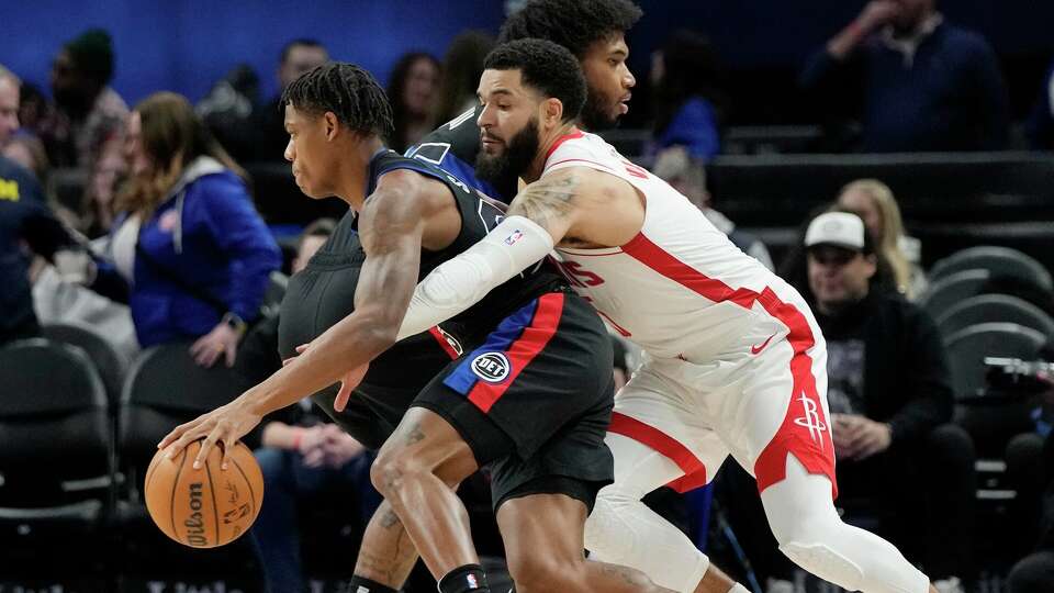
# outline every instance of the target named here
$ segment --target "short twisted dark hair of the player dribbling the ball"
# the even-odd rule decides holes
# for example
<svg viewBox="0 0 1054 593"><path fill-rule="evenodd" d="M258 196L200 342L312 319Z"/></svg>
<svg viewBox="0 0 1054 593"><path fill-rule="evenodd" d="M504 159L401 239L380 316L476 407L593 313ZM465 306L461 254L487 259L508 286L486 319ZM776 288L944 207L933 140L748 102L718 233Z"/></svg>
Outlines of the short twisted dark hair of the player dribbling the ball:
<svg viewBox="0 0 1054 593"><path fill-rule="evenodd" d="M332 111L360 134L392 133L392 107L384 89L370 72L346 61L328 61L301 75L282 91L282 104L315 115Z"/></svg>

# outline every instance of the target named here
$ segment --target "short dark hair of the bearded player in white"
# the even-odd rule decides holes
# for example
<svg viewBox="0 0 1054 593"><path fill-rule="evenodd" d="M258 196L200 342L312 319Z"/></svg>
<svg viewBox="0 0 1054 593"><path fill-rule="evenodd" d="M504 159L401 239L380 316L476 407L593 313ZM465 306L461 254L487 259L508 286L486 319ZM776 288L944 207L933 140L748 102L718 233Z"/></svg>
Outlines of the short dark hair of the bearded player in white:
<svg viewBox="0 0 1054 593"><path fill-rule="evenodd" d="M576 120L585 104L585 75L565 47L546 40L498 45L483 63L486 70L519 70L525 86L563 103L563 121Z"/></svg>

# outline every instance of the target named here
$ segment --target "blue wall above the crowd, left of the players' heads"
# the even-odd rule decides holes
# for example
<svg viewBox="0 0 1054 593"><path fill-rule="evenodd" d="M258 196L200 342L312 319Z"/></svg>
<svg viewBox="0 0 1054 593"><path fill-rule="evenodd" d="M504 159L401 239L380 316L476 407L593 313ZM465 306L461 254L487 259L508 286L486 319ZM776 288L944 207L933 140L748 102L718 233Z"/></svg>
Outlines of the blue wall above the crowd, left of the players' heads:
<svg viewBox="0 0 1054 593"><path fill-rule="evenodd" d="M160 89L197 101L240 61L260 75L266 98L276 92L279 52L293 37L317 38L334 58L360 64L384 82L403 52L424 48L441 57L462 29L496 32L503 15L497 1L0 0L0 63L47 90L63 42L102 26L117 56L113 86L132 103Z"/></svg>

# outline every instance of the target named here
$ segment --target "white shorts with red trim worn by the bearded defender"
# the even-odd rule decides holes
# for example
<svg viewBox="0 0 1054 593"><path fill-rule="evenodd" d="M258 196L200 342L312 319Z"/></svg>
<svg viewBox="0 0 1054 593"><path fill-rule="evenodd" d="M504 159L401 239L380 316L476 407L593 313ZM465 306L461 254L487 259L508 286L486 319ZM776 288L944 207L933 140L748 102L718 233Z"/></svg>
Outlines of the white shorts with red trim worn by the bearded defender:
<svg viewBox="0 0 1054 593"><path fill-rule="evenodd" d="M731 455L764 490L784 478L787 455L810 473L834 481L834 446L827 405L827 349L819 328L810 348L773 339L738 362L695 365L644 355L615 398L608 429L642 443L684 474L680 492L713 480Z"/></svg>

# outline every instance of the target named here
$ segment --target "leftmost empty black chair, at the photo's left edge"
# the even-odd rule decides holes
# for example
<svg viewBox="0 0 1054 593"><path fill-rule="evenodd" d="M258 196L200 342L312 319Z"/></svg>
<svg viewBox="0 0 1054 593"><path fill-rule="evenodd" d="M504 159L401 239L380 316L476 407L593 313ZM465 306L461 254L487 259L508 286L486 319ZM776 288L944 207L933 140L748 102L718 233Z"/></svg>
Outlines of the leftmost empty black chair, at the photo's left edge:
<svg viewBox="0 0 1054 593"><path fill-rule="evenodd" d="M101 563L113 438L99 373L81 349L35 338L0 348L0 574Z"/></svg>

